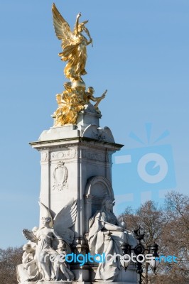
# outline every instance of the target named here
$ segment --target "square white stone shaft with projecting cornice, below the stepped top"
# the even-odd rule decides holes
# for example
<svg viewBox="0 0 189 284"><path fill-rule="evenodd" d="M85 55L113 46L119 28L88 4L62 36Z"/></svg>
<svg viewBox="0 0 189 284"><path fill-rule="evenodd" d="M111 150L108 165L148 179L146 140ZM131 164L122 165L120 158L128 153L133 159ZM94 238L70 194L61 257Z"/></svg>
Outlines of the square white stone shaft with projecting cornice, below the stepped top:
<svg viewBox="0 0 189 284"><path fill-rule="evenodd" d="M75 239L84 237L90 214L95 213L86 206L88 195L92 194L89 192L93 195L95 192L93 200L95 197L102 200L106 194L114 197L111 156L121 148L114 141L108 141L105 131L103 137L97 136L97 126L90 127L95 138L90 138L88 132L85 137L85 131L81 135L73 126L62 126L42 133L39 141L30 143L41 152L40 201L52 216L70 200L77 199ZM65 137L60 138L61 134Z"/></svg>

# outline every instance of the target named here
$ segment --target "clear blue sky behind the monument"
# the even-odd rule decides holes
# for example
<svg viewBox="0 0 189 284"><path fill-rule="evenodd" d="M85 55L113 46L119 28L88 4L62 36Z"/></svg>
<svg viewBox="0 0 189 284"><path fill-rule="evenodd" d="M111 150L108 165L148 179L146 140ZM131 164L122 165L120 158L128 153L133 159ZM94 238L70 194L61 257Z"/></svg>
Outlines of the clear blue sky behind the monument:
<svg viewBox="0 0 189 284"><path fill-rule="evenodd" d="M63 91L65 82L52 4L49 0L1 3L1 248L23 244L21 230L38 224L40 156L28 143L53 126L55 94ZM160 155L168 155L168 167L171 164L169 173L175 182L150 188L136 182L136 165L114 163L116 212L127 205L136 207L148 197L162 202L163 190L188 194L188 0L57 0L55 4L71 27L80 11L82 21L90 20L87 28L94 47L88 48L84 80L97 96L108 89L99 105L100 124L109 126L115 141L124 144L118 155L131 153L139 160L157 146ZM169 135L155 143L165 131ZM171 152L165 152L166 145ZM132 172L130 180L124 175L126 169Z"/></svg>

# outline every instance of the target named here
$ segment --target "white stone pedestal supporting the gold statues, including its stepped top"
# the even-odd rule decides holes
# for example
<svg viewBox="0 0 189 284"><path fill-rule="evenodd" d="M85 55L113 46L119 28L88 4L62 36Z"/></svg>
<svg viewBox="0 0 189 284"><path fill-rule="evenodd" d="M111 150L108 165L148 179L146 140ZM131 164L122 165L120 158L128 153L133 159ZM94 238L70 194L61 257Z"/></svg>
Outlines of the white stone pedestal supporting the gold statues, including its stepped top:
<svg viewBox="0 0 189 284"><path fill-rule="evenodd" d="M90 104L78 115L77 125L52 127L43 131L38 141L30 143L41 153L40 202L48 208L52 217L71 200L77 200L77 218L71 228L75 234L72 251L76 254L89 251L89 220L102 208L104 197L108 195L114 199L112 153L119 151L123 145L115 143L108 127L99 127L100 117ZM41 208L40 220L43 214ZM71 263L70 268L75 274L72 283L98 283L94 282L97 265L92 267L86 263L80 267L79 263ZM70 283L42 283L57 282ZM114 282L136 283L136 269L133 266L129 266L126 272L123 269Z"/></svg>

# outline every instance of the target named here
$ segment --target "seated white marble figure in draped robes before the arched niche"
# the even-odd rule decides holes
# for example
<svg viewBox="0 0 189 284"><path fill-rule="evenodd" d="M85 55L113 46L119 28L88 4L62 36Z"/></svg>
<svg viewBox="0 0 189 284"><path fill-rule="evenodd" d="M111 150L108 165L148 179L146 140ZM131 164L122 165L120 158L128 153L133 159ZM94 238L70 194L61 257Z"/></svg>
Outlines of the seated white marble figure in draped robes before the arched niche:
<svg viewBox="0 0 189 284"><path fill-rule="evenodd" d="M122 254L121 244L136 246L137 241L130 231L121 226L113 212L111 197L105 197L102 209L90 219L89 249L92 255L105 253ZM114 281L121 270L119 258L114 261L99 263L95 280Z"/></svg>

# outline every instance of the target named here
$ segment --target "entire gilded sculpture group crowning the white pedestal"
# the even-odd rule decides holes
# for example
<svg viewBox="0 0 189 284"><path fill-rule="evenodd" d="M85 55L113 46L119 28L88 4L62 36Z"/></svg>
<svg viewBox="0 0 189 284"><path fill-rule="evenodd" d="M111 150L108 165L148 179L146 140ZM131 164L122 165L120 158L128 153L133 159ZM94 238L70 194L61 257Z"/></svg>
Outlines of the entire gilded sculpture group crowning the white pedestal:
<svg viewBox="0 0 189 284"><path fill-rule="evenodd" d="M61 60L67 62L64 69L65 77L70 82L65 82L65 91L56 95L58 109L54 112L54 126L63 126L65 124L76 124L77 114L85 108L90 100L96 102L94 105L97 114L100 114L98 105L104 99L107 90L101 97L94 97L94 88L89 87L86 92L85 82L82 75L86 75L85 65L87 61L87 45L92 44L90 32L85 24L88 21L79 23L81 13L78 13L75 22L75 28L72 32L67 21L60 15L55 4L53 4L53 25L58 39L62 40L63 52L59 53ZM82 34L85 31L87 38Z"/></svg>

